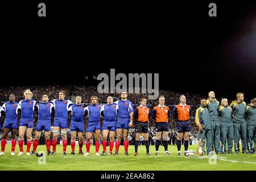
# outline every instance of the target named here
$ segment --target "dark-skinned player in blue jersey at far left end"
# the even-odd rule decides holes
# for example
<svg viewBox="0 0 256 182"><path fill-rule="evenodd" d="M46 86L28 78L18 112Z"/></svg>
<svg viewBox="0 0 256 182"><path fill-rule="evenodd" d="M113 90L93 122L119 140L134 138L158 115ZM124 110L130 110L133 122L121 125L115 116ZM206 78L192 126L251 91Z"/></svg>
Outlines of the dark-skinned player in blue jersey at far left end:
<svg viewBox="0 0 256 182"><path fill-rule="evenodd" d="M10 94L9 102L3 104L3 109L5 110L5 122L3 123L3 138L1 140L1 153L0 155L5 155L5 145L7 140L7 135L11 130L11 155L15 155L16 146L16 131L18 130L18 110L21 109L20 105L15 102L14 94ZM3 111L2 111L3 114Z"/></svg>

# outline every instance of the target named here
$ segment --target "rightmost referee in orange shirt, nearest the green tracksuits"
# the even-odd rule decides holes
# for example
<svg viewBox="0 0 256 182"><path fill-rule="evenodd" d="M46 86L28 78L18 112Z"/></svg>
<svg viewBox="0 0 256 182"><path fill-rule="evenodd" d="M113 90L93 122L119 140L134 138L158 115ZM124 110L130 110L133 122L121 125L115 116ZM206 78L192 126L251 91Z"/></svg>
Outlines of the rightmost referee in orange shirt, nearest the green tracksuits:
<svg viewBox="0 0 256 182"><path fill-rule="evenodd" d="M174 107L174 110L172 110L172 115L176 121L178 155L181 155L180 147L183 134L184 148L185 151L188 150L189 131L191 131L189 119L192 117L191 107L186 104L186 97L184 95L180 96L180 104Z"/></svg>

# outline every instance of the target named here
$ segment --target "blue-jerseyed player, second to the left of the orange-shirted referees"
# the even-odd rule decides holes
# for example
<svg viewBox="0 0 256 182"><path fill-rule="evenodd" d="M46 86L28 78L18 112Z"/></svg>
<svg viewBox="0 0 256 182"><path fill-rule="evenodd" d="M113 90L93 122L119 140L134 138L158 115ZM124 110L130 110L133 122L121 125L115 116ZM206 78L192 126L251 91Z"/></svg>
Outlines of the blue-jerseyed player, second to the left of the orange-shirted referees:
<svg viewBox="0 0 256 182"><path fill-rule="evenodd" d="M102 155L106 155L107 138L109 134L109 155L112 155L112 150L114 146L114 135L115 135L115 125L117 118L118 105L113 104L113 97L109 96L107 99L108 104L102 106L101 115L104 117L104 122L102 126Z"/></svg>

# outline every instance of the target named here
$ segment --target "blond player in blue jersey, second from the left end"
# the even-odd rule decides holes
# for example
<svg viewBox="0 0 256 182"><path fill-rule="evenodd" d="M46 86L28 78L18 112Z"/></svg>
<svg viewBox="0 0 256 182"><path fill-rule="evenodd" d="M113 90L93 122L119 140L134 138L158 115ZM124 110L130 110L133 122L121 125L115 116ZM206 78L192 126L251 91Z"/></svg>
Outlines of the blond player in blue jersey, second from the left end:
<svg viewBox="0 0 256 182"><path fill-rule="evenodd" d="M23 138L27 130L27 151L26 154L30 155L31 134L34 126L34 109L36 101L31 100L33 93L30 90L24 92L25 99L19 101L22 109L22 115L19 122L19 154L23 155Z"/></svg>

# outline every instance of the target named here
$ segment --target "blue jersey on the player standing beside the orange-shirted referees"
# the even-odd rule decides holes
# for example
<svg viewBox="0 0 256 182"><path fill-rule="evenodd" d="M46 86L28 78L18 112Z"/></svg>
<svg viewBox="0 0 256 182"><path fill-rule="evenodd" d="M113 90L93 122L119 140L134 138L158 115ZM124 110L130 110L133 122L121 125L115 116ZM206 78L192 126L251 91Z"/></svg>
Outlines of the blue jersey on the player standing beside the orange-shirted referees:
<svg viewBox="0 0 256 182"><path fill-rule="evenodd" d="M118 118L130 118L130 113L133 113L133 103L131 101L115 101L118 105Z"/></svg>

